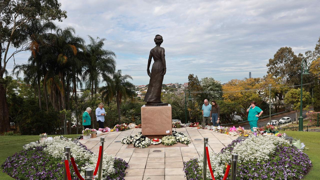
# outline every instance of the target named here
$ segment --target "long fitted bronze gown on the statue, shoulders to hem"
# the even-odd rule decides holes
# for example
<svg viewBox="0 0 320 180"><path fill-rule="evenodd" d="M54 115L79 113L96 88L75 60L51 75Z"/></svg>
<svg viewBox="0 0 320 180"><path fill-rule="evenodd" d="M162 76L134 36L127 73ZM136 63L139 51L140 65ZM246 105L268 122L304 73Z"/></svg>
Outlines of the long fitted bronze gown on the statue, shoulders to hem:
<svg viewBox="0 0 320 180"><path fill-rule="evenodd" d="M154 63L151 69L151 77L144 101L148 103L161 103L161 89L163 82L163 72L165 66L164 48L156 46L150 51L148 63L151 63L153 58Z"/></svg>

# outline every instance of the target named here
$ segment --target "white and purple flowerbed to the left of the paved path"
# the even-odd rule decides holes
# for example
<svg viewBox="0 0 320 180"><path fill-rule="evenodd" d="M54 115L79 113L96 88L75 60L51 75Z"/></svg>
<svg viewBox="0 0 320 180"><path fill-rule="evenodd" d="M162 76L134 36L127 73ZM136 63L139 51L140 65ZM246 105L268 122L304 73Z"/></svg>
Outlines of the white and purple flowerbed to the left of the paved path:
<svg viewBox="0 0 320 180"><path fill-rule="evenodd" d="M79 172L84 175L85 168L95 168L98 155L88 150L79 142L69 141L64 137L53 140L29 143L24 150L8 157L3 172L15 179L61 179L64 170L64 147L70 146ZM70 162L71 177L78 180ZM124 179L128 163L112 156L103 157L102 179Z"/></svg>

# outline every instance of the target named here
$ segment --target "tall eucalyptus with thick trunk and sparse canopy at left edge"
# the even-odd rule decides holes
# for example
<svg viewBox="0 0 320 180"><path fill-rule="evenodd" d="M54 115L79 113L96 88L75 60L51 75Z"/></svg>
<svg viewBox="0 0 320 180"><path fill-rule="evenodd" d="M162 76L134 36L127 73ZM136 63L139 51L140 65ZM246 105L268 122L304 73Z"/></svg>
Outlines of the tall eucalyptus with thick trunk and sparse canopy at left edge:
<svg viewBox="0 0 320 180"><path fill-rule="evenodd" d="M45 8L44 8L45 7ZM3 76L14 54L29 49L30 39L24 34L31 20L52 21L67 18L58 0L3 0L0 2L0 133L10 130L9 111ZM9 51L9 49L15 49Z"/></svg>

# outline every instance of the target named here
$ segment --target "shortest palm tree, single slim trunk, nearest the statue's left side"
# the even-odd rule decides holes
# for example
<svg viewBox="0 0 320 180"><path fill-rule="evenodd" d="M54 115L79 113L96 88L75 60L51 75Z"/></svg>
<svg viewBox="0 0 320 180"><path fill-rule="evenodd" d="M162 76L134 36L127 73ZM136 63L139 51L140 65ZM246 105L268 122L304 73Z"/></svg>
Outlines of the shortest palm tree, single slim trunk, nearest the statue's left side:
<svg viewBox="0 0 320 180"><path fill-rule="evenodd" d="M120 120L120 105L121 100L124 101L130 97L134 97L134 85L129 82L127 79L132 79L130 75L122 75L121 70L118 70L112 78L107 75L102 74L102 78L106 81L107 86L102 86L100 89L100 93L103 99L106 101L111 101L114 97L116 97L117 102L117 110L118 110L118 122L121 124Z"/></svg>

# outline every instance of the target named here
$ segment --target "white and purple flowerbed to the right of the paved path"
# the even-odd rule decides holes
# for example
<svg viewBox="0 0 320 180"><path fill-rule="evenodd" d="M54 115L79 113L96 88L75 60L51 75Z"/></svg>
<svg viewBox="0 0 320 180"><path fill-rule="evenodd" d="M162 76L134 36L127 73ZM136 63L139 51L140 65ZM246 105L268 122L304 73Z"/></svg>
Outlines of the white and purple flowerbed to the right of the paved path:
<svg viewBox="0 0 320 180"><path fill-rule="evenodd" d="M216 179L222 179L231 154L237 153L237 179L301 179L311 168L308 155L276 136L249 136L234 140L220 153L210 152L210 162ZM184 162L188 180L201 180L203 155ZM201 172L201 173L199 173ZM231 171L227 179L230 179ZM207 179L211 179L207 168Z"/></svg>

